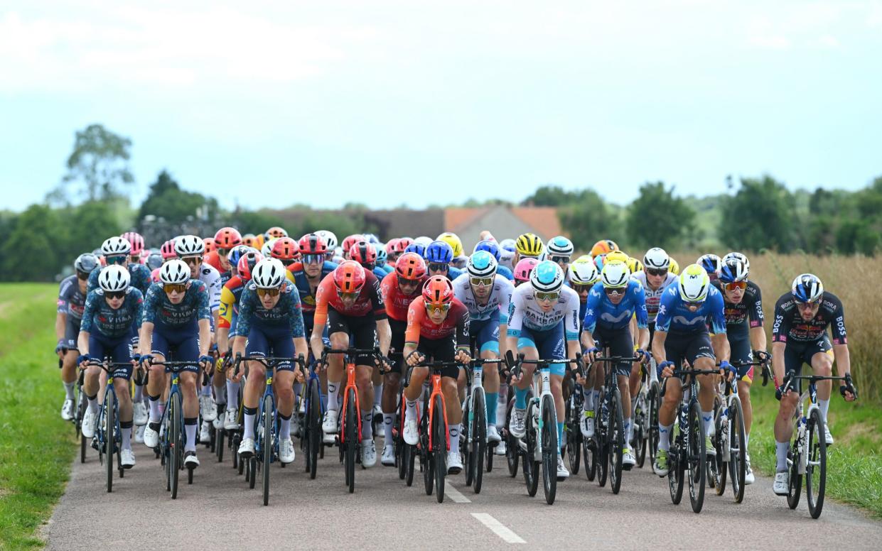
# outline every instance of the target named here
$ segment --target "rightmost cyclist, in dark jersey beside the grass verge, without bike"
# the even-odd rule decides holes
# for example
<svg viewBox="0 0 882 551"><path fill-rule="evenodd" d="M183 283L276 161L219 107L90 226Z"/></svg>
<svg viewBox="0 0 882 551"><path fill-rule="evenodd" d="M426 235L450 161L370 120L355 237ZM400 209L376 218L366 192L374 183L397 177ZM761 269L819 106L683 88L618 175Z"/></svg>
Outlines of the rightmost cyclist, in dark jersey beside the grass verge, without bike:
<svg viewBox="0 0 882 551"><path fill-rule="evenodd" d="M827 335L827 327L833 333L833 343ZM775 398L781 400L778 416L774 421L775 452L777 465L774 475L774 493L787 495L790 473L787 468L787 451L793 434L793 415L799 393L782 392L790 376L798 376L803 364L811 365L815 375L829 376L836 361L838 375L851 373L848 339L845 332L845 312L842 302L835 294L824 290L818 276L803 273L796 276L790 292L782 294L774 305L772 325L772 367L774 369ZM827 445L833 444L833 435L827 426L826 416L830 409L832 381L818 382L818 407L824 416ZM854 385L841 384L839 391L847 401L853 401L857 392Z"/></svg>

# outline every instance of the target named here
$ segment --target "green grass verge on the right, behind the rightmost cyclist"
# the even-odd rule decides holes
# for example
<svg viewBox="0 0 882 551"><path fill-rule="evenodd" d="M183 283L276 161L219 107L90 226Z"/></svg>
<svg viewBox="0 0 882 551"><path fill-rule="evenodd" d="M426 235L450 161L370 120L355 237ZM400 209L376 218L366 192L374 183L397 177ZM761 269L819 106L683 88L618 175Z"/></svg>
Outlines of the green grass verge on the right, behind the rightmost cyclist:
<svg viewBox="0 0 882 551"><path fill-rule="evenodd" d="M755 385L751 402L751 463L759 472L773 476L773 428L778 402L772 385ZM827 419L836 442L827 449L826 495L882 518L882 408L860 400L848 404L834 389Z"/></svg>

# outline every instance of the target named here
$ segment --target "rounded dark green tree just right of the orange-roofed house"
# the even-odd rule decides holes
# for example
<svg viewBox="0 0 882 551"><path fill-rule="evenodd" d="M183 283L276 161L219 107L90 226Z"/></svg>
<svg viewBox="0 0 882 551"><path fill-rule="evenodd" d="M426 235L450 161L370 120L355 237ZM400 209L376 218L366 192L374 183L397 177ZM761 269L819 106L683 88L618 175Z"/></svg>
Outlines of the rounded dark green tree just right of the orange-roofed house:
<svg viewBox="0 0 882 551"><path fill-rule="evenodd" d="M640 195L631 204L626 220L630 242L643 249L669 249L682 244L694 222L695 211L683 198L674 197L673 186L666 190L663 182L640 186Z"/></svg>

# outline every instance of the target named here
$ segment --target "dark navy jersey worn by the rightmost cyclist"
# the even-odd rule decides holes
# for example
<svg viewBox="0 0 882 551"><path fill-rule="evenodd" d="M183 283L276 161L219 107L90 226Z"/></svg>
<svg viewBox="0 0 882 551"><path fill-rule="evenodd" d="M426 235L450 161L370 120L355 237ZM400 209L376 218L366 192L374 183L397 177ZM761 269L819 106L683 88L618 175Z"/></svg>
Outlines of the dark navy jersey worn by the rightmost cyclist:
<svg viewBox="0 0 882 551"><path fill-rule="evenodd" d="M833 331L833 344L848 343L845 335L845 312L842 302L833 293L824 292L821 303L811 321L806 322L796 308L792 294L781 295L774 305L773 342L811 342L826 338L826 329Z"/></svg>

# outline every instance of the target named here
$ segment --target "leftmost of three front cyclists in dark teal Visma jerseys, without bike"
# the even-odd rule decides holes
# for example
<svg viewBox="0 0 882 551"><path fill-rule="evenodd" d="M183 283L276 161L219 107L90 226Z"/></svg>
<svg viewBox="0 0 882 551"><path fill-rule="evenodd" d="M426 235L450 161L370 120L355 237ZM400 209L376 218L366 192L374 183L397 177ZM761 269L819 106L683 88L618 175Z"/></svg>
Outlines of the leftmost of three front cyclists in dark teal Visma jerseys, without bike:
<svg viewBox="0 0 882 551"><path fill-rule="evenodd" d="M138 323L144 306L141 292L131 287L131 274L123 266L110 264L102 269L98 277L98 288L86 295L83 321L79 327L77 363L86 369L83 378L83 393L88 400L83 415L83 436L95 436L98 421L98 377L101 368L86 367L87 361L104 361L105 356L113 362L132 361L131 341L138 333ZM123 433L123 449L120 450L120 463L125 469L135 466L135 454L131 451L131 394L129 378L131 366L116 367L113 370L116 399L119 400L119 428ZM106 459L107 460L107 459Z"/></svg>

